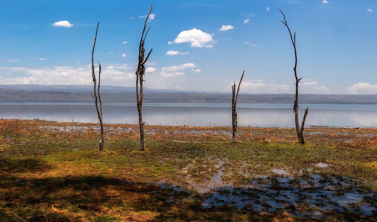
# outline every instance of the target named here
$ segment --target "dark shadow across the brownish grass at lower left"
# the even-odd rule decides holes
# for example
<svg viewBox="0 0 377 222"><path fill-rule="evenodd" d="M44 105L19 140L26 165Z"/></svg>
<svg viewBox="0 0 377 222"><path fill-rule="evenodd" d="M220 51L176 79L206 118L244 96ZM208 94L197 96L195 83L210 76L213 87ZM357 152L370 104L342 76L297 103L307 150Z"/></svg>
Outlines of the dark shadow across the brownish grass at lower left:
<svg viewBox="0 0 377 222"><path fill-rule="evenodd" d="M189 192L177 192L150 183L134 183L105 176L47 177L43 179L6 178L12 182L0 188L0 221L18 221L20 217L44 214L51 204L61 204L58 212L34 221L272 221L290 218L278 212L274 216L241 212L223 205L201 208L201 198Z"/></svg>

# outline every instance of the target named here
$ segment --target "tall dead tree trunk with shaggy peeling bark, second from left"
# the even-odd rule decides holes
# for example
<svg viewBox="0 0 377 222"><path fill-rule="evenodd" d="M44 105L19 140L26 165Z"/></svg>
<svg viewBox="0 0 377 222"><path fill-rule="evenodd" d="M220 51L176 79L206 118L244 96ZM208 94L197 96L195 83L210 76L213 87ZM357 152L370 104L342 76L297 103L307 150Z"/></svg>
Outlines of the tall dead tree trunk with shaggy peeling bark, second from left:
<svg viewBox="0 0 377 222"><path fill-rule="evenodd" d="M149 28L148 28L147 32L145 33L145 35L144 35L144 32L145 32L145 29L146 29L149 14L152 10L153 10L152 5L150 5L150 10L149 10L149 13L147 15L147 19L144 22L144 29L143 29L143 32L141 34L140 45L139 45L139 62L138 62L138 68L136 69L136 105L138 107L139 128L140 128L139 150L144 150L144 122L143 122L143 117L141 116L141 114L142 114L141 106L143 105L143 97L144 97L143 82L145 81L144 80L145 63L147 62L147 60L149 58L150 52L152 52L152 49L150 49L147 57L144 58L144 53L145 53L144 42L145 42L145 38L147 37L148 31L150 29L150 25L149 25Z"/></svg>

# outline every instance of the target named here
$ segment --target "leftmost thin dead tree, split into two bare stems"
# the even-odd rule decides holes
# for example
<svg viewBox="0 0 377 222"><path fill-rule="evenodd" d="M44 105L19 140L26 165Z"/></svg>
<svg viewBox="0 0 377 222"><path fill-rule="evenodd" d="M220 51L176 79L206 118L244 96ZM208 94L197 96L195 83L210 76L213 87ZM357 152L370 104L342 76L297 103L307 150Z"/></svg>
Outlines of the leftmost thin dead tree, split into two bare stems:
<svg viewBox="0 0 377 222"><path fill-rule="evenodd" d="M102 100L101 96L102 93L100 93L100 82L101 82L101 64L100 61L98 61L98 65L100 66L100 71L98 72L98 88L96 87L97 85L97 79L95 76L94 72L94 62L93 62L93 54L94 54L94 47L95 47L95 42L97 39L97 31L98 31L98 26L100 23L98 22L97 24L97 30L95 31L95 38L94 38L94 44L93 44L93 50L92 50L92 77L93 77L93 83L94 83L94 96L92 95L94 101L95 101L95 108L97 109L97 114L98 114L98 120L100 120L100 125L101 125L101 140L100 140L100 146L98 148L99 151L103 150L103 143L104 143L104 127L103 127L103 121L102 121ZM98 107L98 101L100 102L100 107Z"/></svg>

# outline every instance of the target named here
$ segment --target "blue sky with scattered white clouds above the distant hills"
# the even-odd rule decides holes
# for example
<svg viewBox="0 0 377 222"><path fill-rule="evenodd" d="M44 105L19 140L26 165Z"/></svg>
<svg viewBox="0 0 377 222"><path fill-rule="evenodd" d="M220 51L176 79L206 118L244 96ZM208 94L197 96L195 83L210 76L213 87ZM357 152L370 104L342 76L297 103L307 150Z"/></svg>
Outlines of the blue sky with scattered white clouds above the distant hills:
<svg viewBox="0 0 377 222"><path fill-rule="evenodd" d="M294 93L296 31L300 93L377 94L374 0L3 1L0 84L134 86L138 44L153 3L145 87ZM98 67L98 65L96 65Z"/></svg>

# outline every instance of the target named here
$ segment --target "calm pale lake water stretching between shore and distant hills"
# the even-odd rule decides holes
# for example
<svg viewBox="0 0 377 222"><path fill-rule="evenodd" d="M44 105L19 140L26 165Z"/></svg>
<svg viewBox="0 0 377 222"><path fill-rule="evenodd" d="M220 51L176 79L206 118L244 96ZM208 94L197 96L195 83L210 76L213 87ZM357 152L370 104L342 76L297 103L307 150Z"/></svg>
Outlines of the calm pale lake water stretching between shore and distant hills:
<svg viewBox="0 0 377 222"><path fill-rule="evenodd" d="M306 126L377 126L377 105L300 104L299 119L309 106ZM238 126L294 126L293 104L237 104ZM90 122L97 120L93 103L0 103L0 118ZM105 123L138 123L133 103L103 104ZM145 103L147 125L231 126L231 104ZM211 123L209 123L211 122Z"/></svg>

